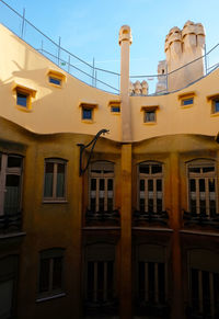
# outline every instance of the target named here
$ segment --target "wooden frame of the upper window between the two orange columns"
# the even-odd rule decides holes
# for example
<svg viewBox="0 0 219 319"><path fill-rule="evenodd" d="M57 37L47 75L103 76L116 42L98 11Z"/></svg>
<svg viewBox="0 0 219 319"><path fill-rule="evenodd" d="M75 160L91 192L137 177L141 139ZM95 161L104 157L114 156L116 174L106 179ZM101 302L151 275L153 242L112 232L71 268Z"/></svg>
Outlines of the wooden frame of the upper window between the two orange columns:
<svg viewBox="0 0 219 319"><path fill-rule="evenodd" d="M140 166L141 164L149 164L149 174L146 174L146 173L140 173ZM154 173L152 174L151 171L152 171L152 164L160 164L161 168L162 168L162 172L161 173ZM146 193L147 193L147 187L146 187L146 181L147 180L152 180L153 181L153 189L154 189L154 185L155 185L155 182L157 180L161 180L161 185L162 185L162 212L164 212L164 164L162 162L159 162L159 161L142 161L142 162L139 162L138 166L137 166L137 181L138 181L138 186L137 186L137 207L138 207L138 210L140 210L140 180L145 180L145 212L143 213L149 213L149 204L148 204L148 210L146 210L146 204L147 202L149 202L149 194L148 194L148 198L146 198ZM155 185L157 186L157 185ZM158 191L157 191L158 192ZM154 214L159 214L158 212L158 206L157 206L157 201L158 197L157 197L157 192L153 192L153 213ZM154 204L155 203L155 204ZM155 207L155 208L154 208Z"/></svg>

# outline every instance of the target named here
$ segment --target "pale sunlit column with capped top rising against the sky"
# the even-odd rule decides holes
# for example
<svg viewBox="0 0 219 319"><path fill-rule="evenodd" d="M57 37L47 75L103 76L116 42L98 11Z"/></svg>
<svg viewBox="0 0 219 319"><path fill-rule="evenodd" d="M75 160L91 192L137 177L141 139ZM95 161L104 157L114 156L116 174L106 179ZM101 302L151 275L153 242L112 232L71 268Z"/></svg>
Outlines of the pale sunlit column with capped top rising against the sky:
<svg viewBox="0 0 219 319"><path fill-rule="evenodd" d="M129 105L129 46L131 42L130 27L123 25L118 39L120 45L120 115L123 141L131 141L131 114Z"/></svg>

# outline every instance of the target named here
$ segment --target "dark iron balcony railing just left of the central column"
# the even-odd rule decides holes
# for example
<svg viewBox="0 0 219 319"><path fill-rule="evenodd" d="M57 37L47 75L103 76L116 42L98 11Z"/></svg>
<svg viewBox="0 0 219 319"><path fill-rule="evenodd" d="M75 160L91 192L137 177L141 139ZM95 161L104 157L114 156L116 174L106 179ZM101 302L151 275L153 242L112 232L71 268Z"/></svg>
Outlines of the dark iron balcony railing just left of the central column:
<svg viewBox="0 0 219 319"><path fill-rule="evenodd" d="M118 209L93 212L87 209L87 225L116 225L120 224L120 215Z"/></svg>

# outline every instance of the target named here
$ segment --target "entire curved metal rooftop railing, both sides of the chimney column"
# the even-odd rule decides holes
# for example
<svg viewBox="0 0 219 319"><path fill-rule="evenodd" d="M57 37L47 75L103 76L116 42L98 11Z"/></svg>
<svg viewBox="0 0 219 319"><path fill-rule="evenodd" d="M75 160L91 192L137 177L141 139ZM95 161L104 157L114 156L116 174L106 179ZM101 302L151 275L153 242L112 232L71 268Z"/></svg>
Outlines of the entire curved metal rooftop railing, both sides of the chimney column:
<svg viewBox="0 0 219 319"><path fill-rule="evenodd" d="M49 36L44 34L25 18L25 10L23 10L23 14L20 14L5 1L0 0L0 22L32 47L37 49L49 60L51 60L54 64L56 64L58 67L72 75L74 78L85 82L91 87L95 87L114 94L119 94L120 75L118 72L97 68L94 59L92 64L89 64L69 50L65 49L61 46L61 37L59 37L58 42L55 42ZM172 93L188 87L189 84L200 80L217 69L219 67L218 57L219 44L214 46L208 53L205 50L205 54L201 57L171 72L166 71L163 75L152 76L130 76L130 81L149 81L149 90L147 94L140 93L137 95L162 95ZM203 72L197 72L196 77L192 76L191 80L188 77L188 80L185 82L180 82L180 87L177 89L171 88L171 81L181 79L182 75L185 72L192 73L194 66L199 61L201 61L204 67ZM159 83L161 83L160 88ZM132 92L132 95L136 95L135 92Z"/></svg>

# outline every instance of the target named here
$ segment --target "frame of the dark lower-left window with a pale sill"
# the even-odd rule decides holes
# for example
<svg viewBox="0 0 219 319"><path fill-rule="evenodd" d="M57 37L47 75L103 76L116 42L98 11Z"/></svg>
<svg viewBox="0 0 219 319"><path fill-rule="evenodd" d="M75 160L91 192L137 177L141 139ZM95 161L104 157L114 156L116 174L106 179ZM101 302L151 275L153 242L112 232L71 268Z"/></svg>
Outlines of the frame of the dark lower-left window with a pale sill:
<svg viewBox="0 0 219 319"><path fill-rule="evenodd" d="M56 258L61 259L61 285L59 288L54 289L54 260ZM42 261L49 260L48 267L48 289L46 292L41 292L41 271ZM38 254L38 281L37 281L37 301L41 299L47 299L58 296L64 296L65 292L65 249L64 248L51 248L39 251Z"/></svg>

